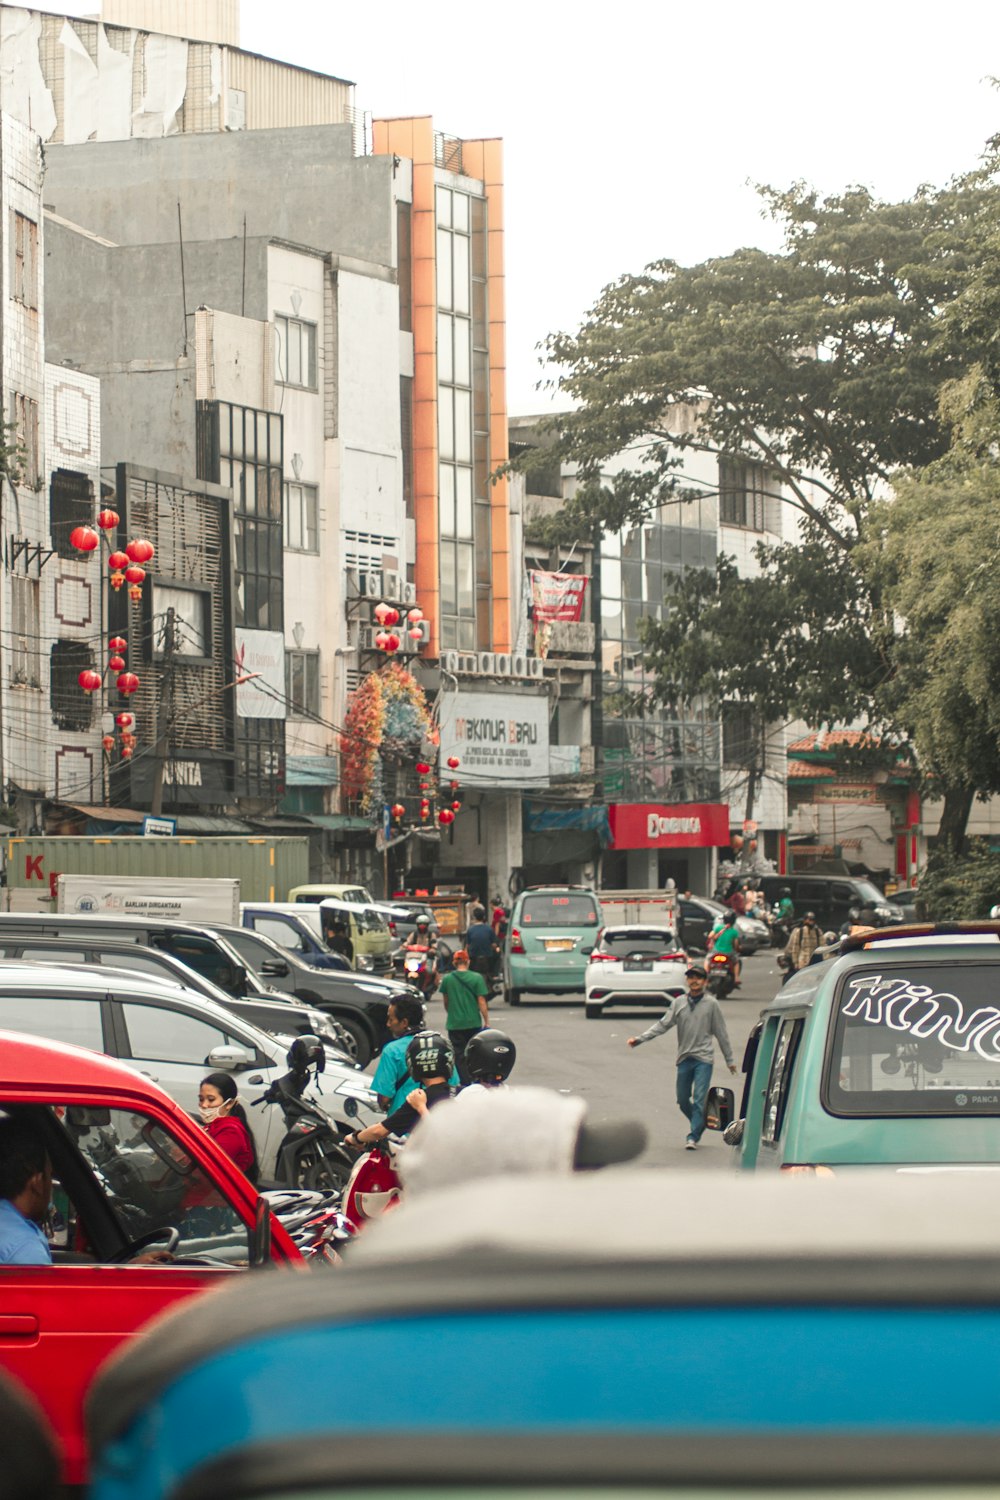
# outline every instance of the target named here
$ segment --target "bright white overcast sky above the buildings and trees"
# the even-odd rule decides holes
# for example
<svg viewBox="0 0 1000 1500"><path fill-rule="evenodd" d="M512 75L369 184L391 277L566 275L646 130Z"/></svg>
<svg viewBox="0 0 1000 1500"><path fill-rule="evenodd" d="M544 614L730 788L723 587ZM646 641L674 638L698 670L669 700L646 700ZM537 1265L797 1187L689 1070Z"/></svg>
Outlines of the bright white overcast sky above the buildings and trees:
<svg viewBox="0 0 1000 1500"><path fill-rule="evenodd" d="M777 248L750 183L906 196L1000 130L996 0L243 0L241 28L250 51L354 80L373 114L504 136L513 414L544 408L535 345L609 280Z"/></svg>

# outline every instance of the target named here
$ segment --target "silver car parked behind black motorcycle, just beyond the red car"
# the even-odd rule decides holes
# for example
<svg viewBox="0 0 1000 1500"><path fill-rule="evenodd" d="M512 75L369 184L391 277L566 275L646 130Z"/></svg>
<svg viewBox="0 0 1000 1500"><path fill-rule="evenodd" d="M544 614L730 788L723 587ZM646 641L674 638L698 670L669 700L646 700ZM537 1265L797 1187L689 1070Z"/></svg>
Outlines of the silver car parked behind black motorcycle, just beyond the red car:
<svg viewBox="0 0 1000 1500"><path fill-rule="evenodd" d="M232 1072L252 1106L288 1070L286 1042L175 984L117 969L4 963L0 1029L106 1052L159 1083L189 1114L198 1110L198 1084L207 1072ZM354 1065L330 1062L316 1090L343 1134L357 1128L358 1118L369 1125L381 1119L369 1080ZM279 1106L253 1108L250 1125L261 1176L273 1178L285 1136Z"/></svg>

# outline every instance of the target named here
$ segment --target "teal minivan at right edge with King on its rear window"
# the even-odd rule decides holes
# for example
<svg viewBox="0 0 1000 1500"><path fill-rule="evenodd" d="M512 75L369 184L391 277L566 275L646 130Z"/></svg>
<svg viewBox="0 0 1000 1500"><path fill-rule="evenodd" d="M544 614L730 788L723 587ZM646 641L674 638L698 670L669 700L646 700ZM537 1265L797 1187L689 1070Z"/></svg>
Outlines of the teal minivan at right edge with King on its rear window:
<svg viewBox="0 0 1000 1500"><path fill-rule="evenodd" d="M745 1170L1000 1166L1000 924L847 939L762 1012L744 1072Z"/></svg>

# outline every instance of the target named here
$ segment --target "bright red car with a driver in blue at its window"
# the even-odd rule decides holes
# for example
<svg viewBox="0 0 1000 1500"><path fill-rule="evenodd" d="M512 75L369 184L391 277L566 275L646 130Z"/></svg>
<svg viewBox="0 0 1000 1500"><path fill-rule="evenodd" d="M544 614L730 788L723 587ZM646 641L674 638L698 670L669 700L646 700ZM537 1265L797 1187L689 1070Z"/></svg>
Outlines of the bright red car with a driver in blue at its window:
<svg viewBox="0 0 1000 1500"><path fill-rule="evenodd" d="M0 1365L85 1479L94 1370L165 1308L240 1269L301 1266L264 1200L162 1089L99 1053L0 1030L0 1112L52 1161L51 1266L0 1264ZM136 1260L169 1250L171 1260Z"/></svg>

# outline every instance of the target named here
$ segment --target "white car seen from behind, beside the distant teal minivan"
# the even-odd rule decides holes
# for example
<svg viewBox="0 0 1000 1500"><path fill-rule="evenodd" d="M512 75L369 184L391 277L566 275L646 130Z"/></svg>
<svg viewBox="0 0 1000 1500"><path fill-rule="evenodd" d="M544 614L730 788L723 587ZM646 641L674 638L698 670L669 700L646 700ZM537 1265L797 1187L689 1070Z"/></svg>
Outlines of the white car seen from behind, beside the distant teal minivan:
<svg viewBox="0 0 1000 1500"><path fill-rule="evenodd" d="M583 978L586 1018L597 1020L609 1005L658 1005L666 1011L687 993L687 966L672 927L604 927Z"/></svg>

